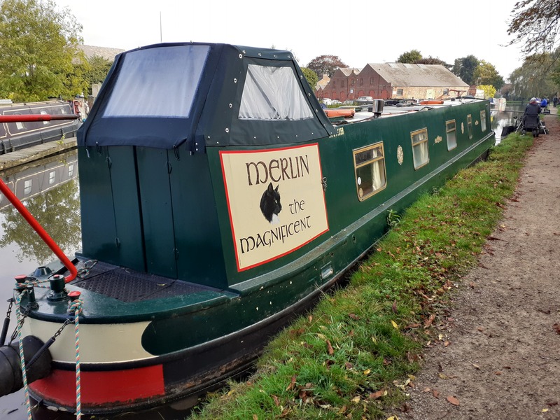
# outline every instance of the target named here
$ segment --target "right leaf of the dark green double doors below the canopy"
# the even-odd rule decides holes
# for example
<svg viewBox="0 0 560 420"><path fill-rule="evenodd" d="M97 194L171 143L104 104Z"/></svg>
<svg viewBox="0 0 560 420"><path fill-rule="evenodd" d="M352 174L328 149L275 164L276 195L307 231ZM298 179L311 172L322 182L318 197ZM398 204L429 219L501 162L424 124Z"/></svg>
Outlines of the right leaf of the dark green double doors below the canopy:
<svg viewBox="0 0 560 420"><path fill-rule="evenodd" d="M165 149L137 147L146 271L177 278L169 162Z"/></svg>

